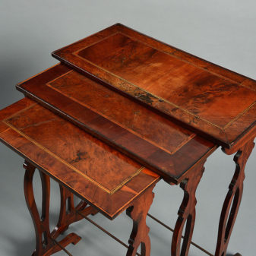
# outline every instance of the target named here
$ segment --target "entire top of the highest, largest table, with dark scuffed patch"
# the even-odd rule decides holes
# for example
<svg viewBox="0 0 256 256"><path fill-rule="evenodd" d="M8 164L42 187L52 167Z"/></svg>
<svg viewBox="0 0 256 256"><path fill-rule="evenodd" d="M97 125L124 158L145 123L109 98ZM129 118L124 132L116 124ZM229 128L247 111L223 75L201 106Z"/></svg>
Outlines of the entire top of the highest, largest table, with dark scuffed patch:
<svg viewBox="0 0 256 256"><path fill-rule="evenodd" d="M52 53L224 147L255 124L256 82L122 24Z"/></svg>

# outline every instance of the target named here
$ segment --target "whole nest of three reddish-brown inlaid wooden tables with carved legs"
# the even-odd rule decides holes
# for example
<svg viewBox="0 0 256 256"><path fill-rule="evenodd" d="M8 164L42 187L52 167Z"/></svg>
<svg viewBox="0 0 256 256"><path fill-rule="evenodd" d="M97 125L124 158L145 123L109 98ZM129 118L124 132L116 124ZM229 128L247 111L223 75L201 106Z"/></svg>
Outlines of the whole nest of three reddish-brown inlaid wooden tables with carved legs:
<svg viewBox="0 0 256 256"><path fill-rule="evenodd" d="M138 254L141 245L141 255L149 256L146 217L153 187L164 179L184 191L170 255L188 256L196 189L207 157L220 146L235 153L236 166L214 254L225 256L256 136L256 81L122 24L52 55L60 63L17 84L25 98L0 112L1 141L25 159L24 192L36 230L33 255L76 244L81 238L74 233L57 241L71 223L91 221L87 216L96 213L113 220L126 210L134 225L128 245L122 242L127 255ZM36 168L41 215L33 197ZM52 231L50 177L61 191ZM77 205L74 194L81 198Z"/></svg>

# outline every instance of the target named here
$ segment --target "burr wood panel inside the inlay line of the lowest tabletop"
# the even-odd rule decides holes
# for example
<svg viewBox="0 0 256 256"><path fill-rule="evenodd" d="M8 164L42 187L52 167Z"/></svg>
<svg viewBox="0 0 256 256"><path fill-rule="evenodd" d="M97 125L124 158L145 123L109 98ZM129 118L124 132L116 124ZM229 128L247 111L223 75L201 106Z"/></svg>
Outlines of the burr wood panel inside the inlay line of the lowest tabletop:
<svg viewBox="0 0 256 256"><path fill-rule="evenodd" d="M37 104L4 122L109 194L143 168Z"/></svg>

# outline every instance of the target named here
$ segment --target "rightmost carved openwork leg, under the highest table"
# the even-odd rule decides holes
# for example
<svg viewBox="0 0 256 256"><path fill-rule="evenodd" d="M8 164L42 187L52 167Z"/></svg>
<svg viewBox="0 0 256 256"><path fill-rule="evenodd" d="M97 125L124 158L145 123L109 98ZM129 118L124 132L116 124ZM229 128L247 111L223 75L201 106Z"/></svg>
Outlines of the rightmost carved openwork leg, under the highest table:
<svg viewBox="0 0 256 256"><path fill-rule="evenodd" d="M229 185L229 191L228 194L226 194L223 209L220 215L215 256L226 256L226 249L229 244L230 235L232 233L242 199L243 182L245 179L245 165L252 149L254 148L253 141L254 140L248 141L238 150L237 153L235 153L234 156L235 174L233 175L232 182ZM231 150L223 149L223 151L227 154L233 153ZM239 256L240 254L235 255Z"/></svg>

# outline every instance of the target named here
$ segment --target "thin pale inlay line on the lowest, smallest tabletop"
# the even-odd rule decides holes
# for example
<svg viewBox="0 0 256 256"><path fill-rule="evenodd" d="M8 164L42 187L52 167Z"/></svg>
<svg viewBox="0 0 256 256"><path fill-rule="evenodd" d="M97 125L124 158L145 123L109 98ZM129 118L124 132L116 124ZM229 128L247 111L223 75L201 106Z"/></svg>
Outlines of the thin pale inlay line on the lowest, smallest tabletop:
<svg viewBox="0 0 256 256"><path fill-rule="evenodd" d="M34 104L36 105L36 104ZM34 106L33 105L33 106ZM30 106L31 107L31 106ZM29 107L29 108L30 108ZM27 108L27 109L29 109ZM23 109L27 110L27 109ZM20 112L22 112L20 111ZM13 117L14 115L12 115ZM37 141L33 140L33 138L27 136L27 134L24 134L22 131L18 130L17 128L15 128L13 125L11 125L8 122L8 119L10 119L11 117L8 117L7 119L3 120L2 122L5 123L5 125L8 125L10 128L12 128L14 131L16 131L18 134L20 134L22 137L25 137L28 141L32 142L33 144L35 144L37 147L40 147L41 150L45 151L46 153L49 153L49 155L53 156L56 160L60 161L61 163L64 163L65 166L68 166L70 169L73 169L75 172L81 174L82 176L84 176L85 179L89 180L90 182L93 182L95 185L97 185L99 188L102 188L104 191L106 191L109 194L114 194L116 191L118 191L120 188L122 188L123 185L125 185L127 182L129 182L131 179L133 179L136 175L138 175L145 167L141 166L141 168L137 169L136 172L133 173L133 175L131 175L128 179L125 179L123 182L121 182L118 186L116 186L115 188L113 188L112 190L109 190L108 188L106 188L104 185L100 184L99 182L96 182L94 179L91 179L88 175L84 174L84 172L81 172L79 169L75 168L74 166L72 166L70 163L66 162L65 160L63 160L60 156L56 155L55 153L53 153L52 151L48 150L46 147L44 147L43 145L39 144Z"/></svg>

